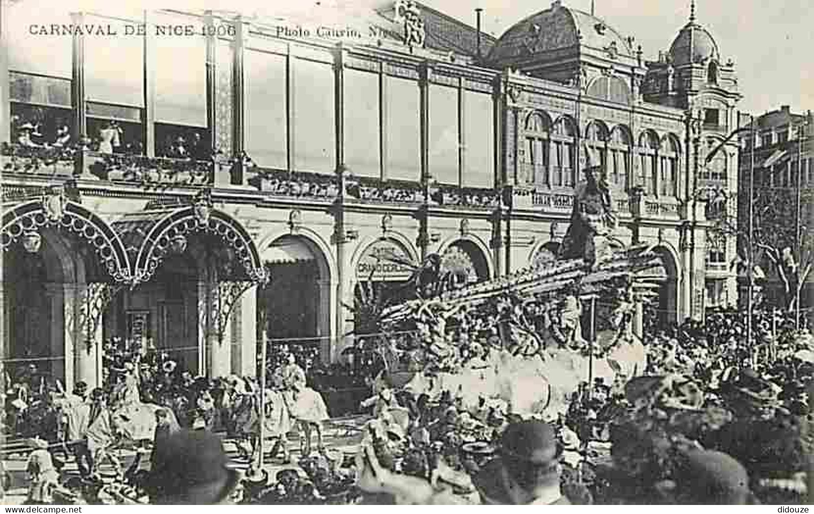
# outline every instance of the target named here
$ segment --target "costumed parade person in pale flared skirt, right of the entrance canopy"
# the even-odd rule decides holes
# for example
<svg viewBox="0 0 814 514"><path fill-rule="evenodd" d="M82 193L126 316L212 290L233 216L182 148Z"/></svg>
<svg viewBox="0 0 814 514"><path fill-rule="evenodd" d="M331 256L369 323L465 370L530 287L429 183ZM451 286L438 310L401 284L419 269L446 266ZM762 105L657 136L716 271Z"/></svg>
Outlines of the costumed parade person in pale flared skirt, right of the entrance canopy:
<svg viewBox="0 0 814 514"><path fill-rule="evenodd" d="M322 421L328 419L328 409L320 393L309 388L305 383L305 371L297 365L293 354L289 354L288 363L283 370L288 393L288 406L293 417L304 432L302 455L311 453L311 429L317 431L317 449L324 450L322 445Z"/></svg>

